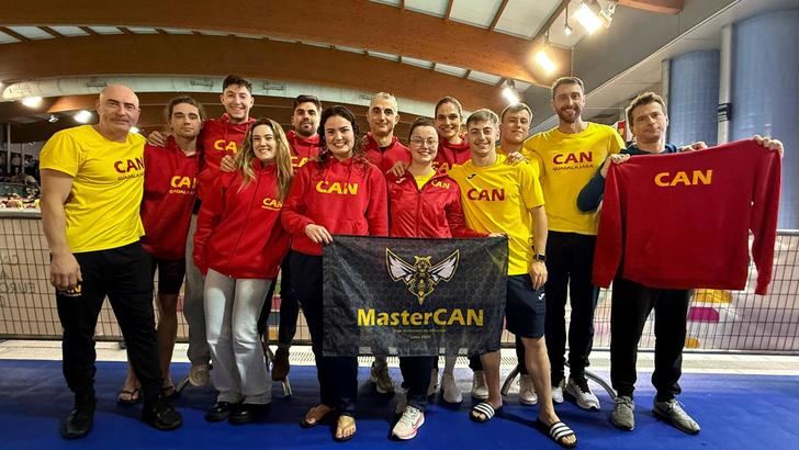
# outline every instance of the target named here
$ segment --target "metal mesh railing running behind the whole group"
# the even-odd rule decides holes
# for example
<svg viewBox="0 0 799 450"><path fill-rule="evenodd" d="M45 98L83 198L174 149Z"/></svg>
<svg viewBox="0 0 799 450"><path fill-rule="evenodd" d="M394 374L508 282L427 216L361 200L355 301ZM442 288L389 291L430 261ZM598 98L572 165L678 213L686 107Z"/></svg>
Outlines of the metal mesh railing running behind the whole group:
<svg viewBox="0 0 799 450"><path fill-rule="evenodd" d="M60 339L55 294L47 281L49 254L37 213L0 211L0 338ZM754 295L754 269L744 291L697 290L688 312L686 348L799 355L799 230L777 234L774 279L768 295ZM182 302L182 296L181 296ZM280 299L273 302L270 336L277 337ZM179 310L182 304L179 304ZM566 311L569 319L569 311ZM188 326L178 315L178 339ZM641 348L654 348L653 318L646 322ZM99 340L120 340L110 305L103 305ZM295 344L310 344L300 316ZM507 331L503 344L513 346ZM596 311L594 348L610 346L610 291L603 290Z"/></svg>

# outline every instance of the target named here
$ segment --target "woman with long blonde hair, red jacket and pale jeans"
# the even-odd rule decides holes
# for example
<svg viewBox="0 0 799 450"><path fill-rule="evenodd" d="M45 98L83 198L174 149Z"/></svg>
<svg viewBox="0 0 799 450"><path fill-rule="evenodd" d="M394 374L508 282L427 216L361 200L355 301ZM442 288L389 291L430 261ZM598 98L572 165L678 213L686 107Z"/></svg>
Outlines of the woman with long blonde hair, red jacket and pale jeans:
<svg viewBox="0 0 799 450"><path fill-rule="evenodd" d="M271 400L257 323L289 249L280 211L292 168L280 125L254 122L235 162L236 170L218 177L203 199L194 263L206 274L205 331L218 391L205 419L246 424Z"/></svg>

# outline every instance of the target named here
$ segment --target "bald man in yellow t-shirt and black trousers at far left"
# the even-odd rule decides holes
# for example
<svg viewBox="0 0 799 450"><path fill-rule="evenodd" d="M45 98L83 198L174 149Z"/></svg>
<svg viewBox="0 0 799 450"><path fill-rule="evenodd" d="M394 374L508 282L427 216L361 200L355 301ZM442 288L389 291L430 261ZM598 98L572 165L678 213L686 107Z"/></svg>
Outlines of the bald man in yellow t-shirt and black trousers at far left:
<svg viewBox="0 0 799 450"><path fill-rule="evenodd" d="M75 393L75 408L61 424L65 439L86 436L93 423L94 328L106 295L142 382L142 420L162 430L182 424L161 394L149 258L139 244L145 139L131 133L138 98L124 86L109 86L97 112L97 125L64 130L47 140L40 165L50 283L64 327L64 375Z"/></svg>

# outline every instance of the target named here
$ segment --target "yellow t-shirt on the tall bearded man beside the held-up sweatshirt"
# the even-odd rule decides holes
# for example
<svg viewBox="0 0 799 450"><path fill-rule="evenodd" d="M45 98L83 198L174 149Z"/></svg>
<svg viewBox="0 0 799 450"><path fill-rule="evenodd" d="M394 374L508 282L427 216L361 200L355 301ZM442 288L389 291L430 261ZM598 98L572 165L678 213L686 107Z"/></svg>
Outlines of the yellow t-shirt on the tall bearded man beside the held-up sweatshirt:
<svg viewBox="0 0 799 450"><path fill-rule="evenodd" d="M550 230L597 233L596 213L581 212L577 195L605 159L624 148L624 142L610 126L590 122L587 125L574 134L554 127L525 140L522 154L540 166Z"/></svg>

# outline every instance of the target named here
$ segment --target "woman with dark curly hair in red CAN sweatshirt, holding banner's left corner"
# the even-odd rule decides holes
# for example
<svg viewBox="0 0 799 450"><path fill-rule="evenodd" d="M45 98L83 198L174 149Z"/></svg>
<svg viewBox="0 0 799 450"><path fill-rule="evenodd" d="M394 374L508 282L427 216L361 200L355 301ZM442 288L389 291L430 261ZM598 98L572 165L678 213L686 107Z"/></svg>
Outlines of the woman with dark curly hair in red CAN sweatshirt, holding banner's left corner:
<svg viewBox="0 0 799 450"><path fill-rule="evenodd" d="M338 441L356 432L358 360L322 355L322 246L333 241L333 234L385 236L389 232L385 179L365 159L359 134L348 109L336 105L323 111L322 150L297 172L282 213L283 226L292 235L292 286L311 331L322 400L302 425L313 427L338 413Z"/></svg>

